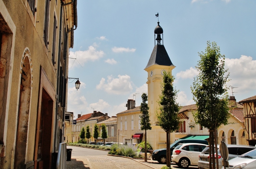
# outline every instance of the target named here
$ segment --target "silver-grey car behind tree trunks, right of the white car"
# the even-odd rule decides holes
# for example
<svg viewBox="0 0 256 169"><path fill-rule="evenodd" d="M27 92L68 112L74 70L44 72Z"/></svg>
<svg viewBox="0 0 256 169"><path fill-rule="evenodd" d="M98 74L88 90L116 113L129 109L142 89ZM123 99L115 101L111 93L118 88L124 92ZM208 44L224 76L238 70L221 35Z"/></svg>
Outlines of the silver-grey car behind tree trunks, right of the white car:
<svg viewBox="0 0 256 169"><path fill-rule="evenodd" d="M219 163L219 168L222 167L222 158L219 150L219 146L217 145L218 148L218 157L215 155L215 165L216 165L216 159L218 158L218 163ZM256 149L254 146L245 146L245 145L227 145L228 147L228 161L230 159L234 159L237 156L240 156L244 153L247 153L251 150ZM214 149L215 152L215 149ZM198 168L200 169L209 169L209 146L203 149L203 151L199 154L199 161L198 161Z"/></svg>

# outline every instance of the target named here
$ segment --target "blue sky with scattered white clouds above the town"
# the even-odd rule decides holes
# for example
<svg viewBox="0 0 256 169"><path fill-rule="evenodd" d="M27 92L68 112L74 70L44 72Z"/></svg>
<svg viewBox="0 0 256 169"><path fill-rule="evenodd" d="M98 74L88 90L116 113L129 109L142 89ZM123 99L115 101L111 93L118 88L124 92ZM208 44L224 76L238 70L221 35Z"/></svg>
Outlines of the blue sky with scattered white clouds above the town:
<svg viewBox="0 0 256 169"><path fill-rule="evenodd" d="M207 41L225 55L225 68L237 101L256 94L255 0L78 0L78 28L70 49L69 75L81 86L68 85L68 111L93 110L115 115L128 99L141 103L147 92L146 67L154 48L159 13L163 44L176 66L177 102L194 104L190 86ZM231 90L229 95L232 96Z"/></svg>

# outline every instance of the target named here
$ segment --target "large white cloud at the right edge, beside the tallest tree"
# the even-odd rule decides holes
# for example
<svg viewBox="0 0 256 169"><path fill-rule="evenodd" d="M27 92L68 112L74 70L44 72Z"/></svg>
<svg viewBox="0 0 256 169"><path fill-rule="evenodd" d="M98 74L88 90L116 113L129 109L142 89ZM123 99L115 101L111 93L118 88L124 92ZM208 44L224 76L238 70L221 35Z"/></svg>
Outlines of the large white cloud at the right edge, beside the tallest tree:
<svg viewBox="0 0 256 169"><path fill-rule="evenodd" d="M238 87L236 92L249 92L256 89L256 60L241 55L239 59L225 59L225 68L230 72L228 85Z"/></svg>

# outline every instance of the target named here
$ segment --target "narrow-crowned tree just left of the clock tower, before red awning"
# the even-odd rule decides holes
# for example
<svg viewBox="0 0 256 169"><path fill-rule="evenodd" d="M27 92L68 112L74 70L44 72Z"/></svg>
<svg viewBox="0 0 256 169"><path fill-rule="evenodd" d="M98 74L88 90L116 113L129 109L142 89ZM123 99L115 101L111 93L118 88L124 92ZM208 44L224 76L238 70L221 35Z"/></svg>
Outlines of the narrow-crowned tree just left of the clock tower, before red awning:
<svg viewBox="0 0 256 169"><path fill-rule="evenodd" d="M151 130L151 125L150 125L150 120L149 120L149 114L148 114L148 104L146 101L148 101L148 95L146 93L142 93L141 95L142 98L142 103L140 105L140 125L141 125L141 130L145 131L145 162L147 162L147 130Z"/></svg>

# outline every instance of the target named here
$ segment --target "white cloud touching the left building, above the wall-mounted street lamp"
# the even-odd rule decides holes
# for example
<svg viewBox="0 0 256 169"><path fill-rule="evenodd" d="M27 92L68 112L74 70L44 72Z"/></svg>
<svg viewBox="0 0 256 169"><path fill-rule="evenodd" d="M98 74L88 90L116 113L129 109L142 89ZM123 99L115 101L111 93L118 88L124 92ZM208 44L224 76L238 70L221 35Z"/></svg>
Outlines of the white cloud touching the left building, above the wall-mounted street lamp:
<svg viewBox="0 0 256 169"><path fill-rule="evenodd" d="M93 46L89 46L88 50L85 50L85 51L80 51L80 50L76 52L70 51L69 57L76 58L76 60L69 59L68 67L70 69L71 67L78 67L80 66L80 64L81 66L83 66L88 61L96 61L100 59L101 57L103 57L104 54L105 53L102 50L97 51L96 48Z"/></svg>

